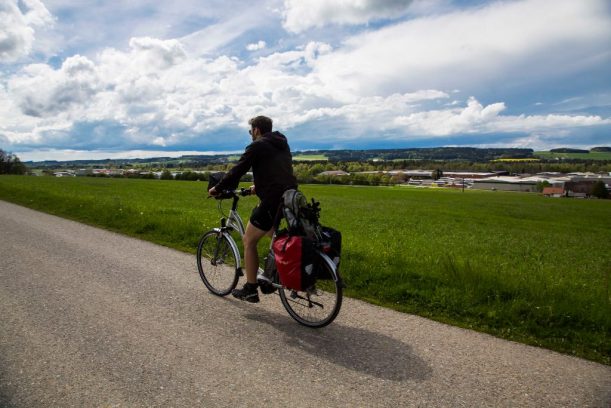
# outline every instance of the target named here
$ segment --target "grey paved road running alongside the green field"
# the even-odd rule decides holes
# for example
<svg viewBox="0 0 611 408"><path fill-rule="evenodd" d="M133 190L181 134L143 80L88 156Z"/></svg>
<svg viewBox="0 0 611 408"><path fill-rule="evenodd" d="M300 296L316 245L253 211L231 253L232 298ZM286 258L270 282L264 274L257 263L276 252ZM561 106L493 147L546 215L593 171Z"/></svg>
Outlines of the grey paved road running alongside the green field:
<svg viewBox="0 0 611 408"><path fill-rule="evenodd" d="M195 259L0 201L1 407L586 407L611 367L346 301L210 295Z"/></svg>

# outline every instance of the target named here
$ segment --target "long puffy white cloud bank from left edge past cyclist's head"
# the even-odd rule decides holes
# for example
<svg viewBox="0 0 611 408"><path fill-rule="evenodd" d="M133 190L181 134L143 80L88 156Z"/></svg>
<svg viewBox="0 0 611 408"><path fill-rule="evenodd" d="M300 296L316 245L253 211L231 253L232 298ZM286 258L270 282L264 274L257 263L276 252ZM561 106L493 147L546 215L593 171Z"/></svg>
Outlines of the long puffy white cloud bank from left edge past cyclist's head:
<svg viewBox="0 0 611 408"><path fill-rule="evenodd" d="M410 105L447 97L439 91L373 98L335 94L316 76L303 74L329 52L327 44L312 42L240 68L227 57L189 58L176 40L132 39L129 51L107 49L96 62L74 56L58 69L26 66L8 81L6 98L29 128L12 126L3 133L13 143L38 143L43 132L65 135L66 123L111 122L124 127L126 143L173 146L244 126L253 112L278 118L283 128L373 113L386 121Z"/></svg>

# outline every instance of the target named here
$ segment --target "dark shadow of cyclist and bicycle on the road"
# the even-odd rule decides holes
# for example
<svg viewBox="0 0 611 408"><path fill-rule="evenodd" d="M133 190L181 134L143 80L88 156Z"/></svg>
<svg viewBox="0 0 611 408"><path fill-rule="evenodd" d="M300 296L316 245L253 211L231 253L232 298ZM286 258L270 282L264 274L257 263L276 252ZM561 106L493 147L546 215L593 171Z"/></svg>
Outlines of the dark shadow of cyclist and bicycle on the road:
<svg viewBox="0 0 611 408"><path fill-rule="evenodd" d="M423 381L432 375L430 366L408 344L384 334L337 323L309 329L278 314L248 313L245 317L269 324L284 335L290 347L351 370L392 381Z"/></svg>

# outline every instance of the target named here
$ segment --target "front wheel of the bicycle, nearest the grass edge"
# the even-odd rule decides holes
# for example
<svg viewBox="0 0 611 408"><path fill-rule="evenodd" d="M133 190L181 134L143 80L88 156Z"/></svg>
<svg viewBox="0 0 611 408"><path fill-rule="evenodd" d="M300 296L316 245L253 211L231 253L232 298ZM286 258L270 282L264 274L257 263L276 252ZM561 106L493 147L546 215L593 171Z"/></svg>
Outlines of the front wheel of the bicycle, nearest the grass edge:
<svg viewBox="0 0 611 408"><path fill-rule="evenodd" d="M217 296L226 296L239 279L240 255L230 237L219 231L208 231L197 246L197 269L204 285Z"/></svg>

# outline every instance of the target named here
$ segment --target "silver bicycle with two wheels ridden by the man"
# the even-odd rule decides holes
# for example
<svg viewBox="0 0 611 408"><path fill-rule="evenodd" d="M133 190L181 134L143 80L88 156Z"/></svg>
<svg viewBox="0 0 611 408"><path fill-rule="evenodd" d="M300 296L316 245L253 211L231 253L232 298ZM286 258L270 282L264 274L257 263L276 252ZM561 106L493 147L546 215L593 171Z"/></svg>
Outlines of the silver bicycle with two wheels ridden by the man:
<svg viewBox="0 0 611 408"><path fill-rule="evenodd" d="M221 213L221 225L205 232L197 246L197 268L199 275L208 290L217 296L227 296L237 286L243 276L242 263L238 245L232 237L237 232L240 239L244 236L244 223L237 212L240 197L251 195L248 189L223 191L217 198ZM222 209L223 199L231 198L232 205L226 217ZM276 224L280 224L280 220ZM273 257L272 244L276 239L275 226L268 256L264 261L265 272L271 276L271 285L277 289L282 305L298 323L320 328L331 323L338 315L343 298L343 283L336 264L325 254L328 243L319 239L315 242L315 269L319 276L330 279L318 280L314 286L304 291L288 289L280 282Z"/></svg>

